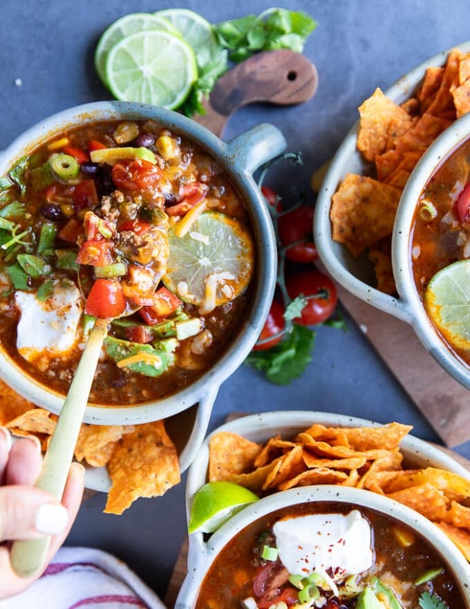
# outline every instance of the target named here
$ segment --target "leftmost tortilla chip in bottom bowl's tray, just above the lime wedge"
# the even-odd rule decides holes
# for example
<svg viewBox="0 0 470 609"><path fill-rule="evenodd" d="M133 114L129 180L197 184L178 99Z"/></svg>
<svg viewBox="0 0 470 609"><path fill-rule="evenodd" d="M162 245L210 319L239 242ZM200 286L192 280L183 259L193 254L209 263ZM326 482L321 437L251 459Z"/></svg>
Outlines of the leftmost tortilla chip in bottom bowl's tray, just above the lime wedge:
<svg viewBox="0 0 470 609"><path fill-rule="evenodd" d="M261 446L236 433L220 431L209 441L209 482L230 480L230 476L253 469Z"/></svg>

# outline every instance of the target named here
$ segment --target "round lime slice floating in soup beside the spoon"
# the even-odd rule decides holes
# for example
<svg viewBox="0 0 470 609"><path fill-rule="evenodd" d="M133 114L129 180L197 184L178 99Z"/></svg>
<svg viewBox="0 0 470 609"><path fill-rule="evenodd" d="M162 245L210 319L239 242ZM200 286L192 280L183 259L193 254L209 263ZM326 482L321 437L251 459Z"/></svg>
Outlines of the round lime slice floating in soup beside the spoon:
<svg viewBox="0 0 470 609"><path fill-rule="evenodd" d="M176 237L173 228L168 240L170 254L163 282L169 291L194 305L203 305L209 275L220 276L216 283L217 307L245 291L252 277L254 247L250 233L236 219L206 212L184 237ZM178 289L180 282L186 284L187 298Z"/></svg>

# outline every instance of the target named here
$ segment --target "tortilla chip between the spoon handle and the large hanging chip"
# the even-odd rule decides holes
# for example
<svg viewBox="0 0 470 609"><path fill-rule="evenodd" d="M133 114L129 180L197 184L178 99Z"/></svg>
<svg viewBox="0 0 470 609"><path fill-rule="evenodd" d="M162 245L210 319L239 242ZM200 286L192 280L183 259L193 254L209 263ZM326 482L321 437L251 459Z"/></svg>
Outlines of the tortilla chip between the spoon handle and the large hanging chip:
<svg viewBox="0 0 470 609"><path fill-rule="evenodd" d="M75 457L78 461L86 460L89 465L102 467L106 465L113 452L115 442L126 433L133 433L133 425L86 425L80 428L75 446ZM107 446L110 445L110 446ZM106 447L105 450L103 448Z"/></svg>

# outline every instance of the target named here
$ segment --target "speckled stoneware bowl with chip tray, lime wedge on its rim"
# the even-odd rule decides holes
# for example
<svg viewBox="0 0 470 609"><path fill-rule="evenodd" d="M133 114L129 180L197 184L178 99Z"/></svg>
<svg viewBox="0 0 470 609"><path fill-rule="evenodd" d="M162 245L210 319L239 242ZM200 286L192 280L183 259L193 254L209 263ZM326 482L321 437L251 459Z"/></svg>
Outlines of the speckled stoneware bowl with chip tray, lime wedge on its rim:
<svg viewBox="0 0 470 609"><path fill-rule="evenodd" d="M238 433L253 442L264 443L267 439L277 434L283 439L288 439L306 430L314 423L326 426L361 427L378 426L379 424L364 419L334 415L327 412L308 411L283 411L264 412L261 415L250 415L236 419L214 431L229 431ZM198 455L194 459L187 478L187 516L191 510L194 495L200 487L207 482L207 468L209 465L209 440L207 437ZM413 436L407 436L401 444L402 453L405 457L406 466L425 467L435 466L458 473L465 478L470 474L460 464L448 457L438 448L423 442ZM182 585L175 609L192 609L198 591L205 574L209 570L218 553L229 543L238 531L250 525L251 522L265 516L265 514L282 507L297 505L310 501L334 501L364 506L391 516L411 527L418 534L424 536L433 549L444 558L451 568L455 579L460 583L462 594L470 609L470 565L465 560L460 550L453 545L442 531L433 525L430 520L424 518L396 501L383 497L371 491L353 489L339 486L313 486L290 489L268 496L247 506L228 522L220 527L207 542L203 534L194 533L189 536L189 554L187 565L187 576Z"/></svg>

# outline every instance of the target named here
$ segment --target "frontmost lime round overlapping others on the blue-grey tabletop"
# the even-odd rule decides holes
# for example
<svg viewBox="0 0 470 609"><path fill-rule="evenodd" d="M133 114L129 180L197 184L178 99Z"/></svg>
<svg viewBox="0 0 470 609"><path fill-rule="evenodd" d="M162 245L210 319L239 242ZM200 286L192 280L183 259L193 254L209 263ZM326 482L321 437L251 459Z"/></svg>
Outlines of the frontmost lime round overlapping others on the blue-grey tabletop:
<svg viewBox="0 0 470 609"><path fill-rule="evenodd" d="M191 47L180 37L159 30L122 38L106 59L106 80L118 100L177 108L196 78Z"/></svg>

